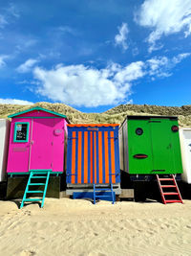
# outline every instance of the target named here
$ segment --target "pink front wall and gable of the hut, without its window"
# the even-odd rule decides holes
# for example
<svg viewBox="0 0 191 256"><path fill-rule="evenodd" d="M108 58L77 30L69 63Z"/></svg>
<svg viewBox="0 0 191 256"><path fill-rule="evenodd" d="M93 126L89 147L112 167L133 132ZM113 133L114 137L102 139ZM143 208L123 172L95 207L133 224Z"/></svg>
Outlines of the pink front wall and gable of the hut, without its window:
<svg viewBox="0 0 191 256"><path fill-rule="evenodd" d="M21 117L22 116L22 117ZM28 173L29 170L64 172L64 143L67 121L42 110L12 118L8 157L8 173ZM56 118L23 118L23 117ZM29 122L29 141L13 142L15 122Z"/></svg>

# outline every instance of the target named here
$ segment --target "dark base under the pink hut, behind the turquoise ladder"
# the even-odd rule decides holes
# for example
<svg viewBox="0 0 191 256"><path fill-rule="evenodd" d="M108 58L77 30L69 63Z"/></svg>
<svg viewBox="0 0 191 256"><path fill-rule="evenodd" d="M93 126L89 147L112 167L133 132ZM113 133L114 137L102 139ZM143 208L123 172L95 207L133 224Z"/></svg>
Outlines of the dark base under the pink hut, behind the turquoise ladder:
<svg viewBox="0 0 191 256"><path fill-rule="evenodd" d="M29 176L8 177L6 199L23 198ZM35 180L42 182L42 179ZM33 188L32 188L33 189ZM35 186L35 190L43 190L44 186ZM50 176L46 198L60 198L60 176ZM39 194L30 194L31 197L38 197Z"/></svg>

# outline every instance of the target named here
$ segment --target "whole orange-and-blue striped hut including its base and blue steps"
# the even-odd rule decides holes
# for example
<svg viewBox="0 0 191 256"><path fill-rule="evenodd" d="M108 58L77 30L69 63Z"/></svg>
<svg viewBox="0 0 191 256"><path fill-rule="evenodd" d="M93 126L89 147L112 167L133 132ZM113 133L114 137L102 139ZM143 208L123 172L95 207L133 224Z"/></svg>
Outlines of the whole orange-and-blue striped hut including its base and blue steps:
<svg viewBox="0 0 191 256"><path fill-rule="evenodd" d="M118 153L118 125L68 125L67 194L114 202L120 194Z"/></svg>

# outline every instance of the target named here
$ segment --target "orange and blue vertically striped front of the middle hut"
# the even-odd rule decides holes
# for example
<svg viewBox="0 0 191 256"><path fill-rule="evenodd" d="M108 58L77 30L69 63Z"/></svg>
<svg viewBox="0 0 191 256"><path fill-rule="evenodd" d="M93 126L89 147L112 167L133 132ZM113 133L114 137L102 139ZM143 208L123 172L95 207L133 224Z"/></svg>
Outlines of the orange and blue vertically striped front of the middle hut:
<svg viewBox="0 0 191 256"><path fill-rule="evenodd" d="M67 183L118 183L118 127L68 127Z"/></svg>

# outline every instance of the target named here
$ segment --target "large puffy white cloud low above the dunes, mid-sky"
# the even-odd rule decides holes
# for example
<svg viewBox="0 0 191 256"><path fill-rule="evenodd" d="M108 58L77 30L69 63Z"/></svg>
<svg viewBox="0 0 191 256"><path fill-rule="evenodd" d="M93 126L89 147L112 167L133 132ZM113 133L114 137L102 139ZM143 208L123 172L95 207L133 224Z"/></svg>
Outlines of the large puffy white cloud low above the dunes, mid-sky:
<svg viewBox="0 0 191 256"><path fill-rule="evenodd" d="M124 101L131 81L143 76L140 61L125 68L115 63L104 69L84 65L57 65L52 70L35 67L37 92L53 101L70 105L112 105Z"/></svg>

